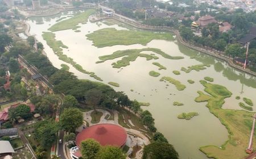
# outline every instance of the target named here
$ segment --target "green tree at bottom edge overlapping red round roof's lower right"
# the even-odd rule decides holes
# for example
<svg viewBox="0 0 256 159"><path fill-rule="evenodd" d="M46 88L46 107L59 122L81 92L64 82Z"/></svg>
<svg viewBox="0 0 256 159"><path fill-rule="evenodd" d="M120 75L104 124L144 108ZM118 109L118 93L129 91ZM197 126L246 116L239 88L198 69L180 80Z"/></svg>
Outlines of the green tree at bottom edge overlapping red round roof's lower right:
<svg viewBox="0 0 256 159"><path fill-rule="evenodd" d="M96 159L125 159L126 155L122 149L113 146L106 146L100 149L97 153Z"/></svg>

